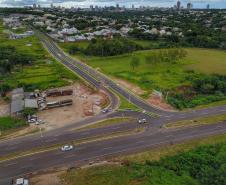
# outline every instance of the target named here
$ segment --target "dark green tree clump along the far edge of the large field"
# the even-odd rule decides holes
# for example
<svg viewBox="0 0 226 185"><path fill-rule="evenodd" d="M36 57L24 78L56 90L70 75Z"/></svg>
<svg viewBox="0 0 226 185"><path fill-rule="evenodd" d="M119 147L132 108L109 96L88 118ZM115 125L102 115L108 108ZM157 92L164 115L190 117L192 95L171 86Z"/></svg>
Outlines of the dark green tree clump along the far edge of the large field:
<svg viewBox="0 0 226 185"><path fill-rule="evenodd" d="M140 49L142 49L142 46L125 38L115 38L111 40L94 39L84 52L87 55L94 56L114 56L131 53Z"/></svg>

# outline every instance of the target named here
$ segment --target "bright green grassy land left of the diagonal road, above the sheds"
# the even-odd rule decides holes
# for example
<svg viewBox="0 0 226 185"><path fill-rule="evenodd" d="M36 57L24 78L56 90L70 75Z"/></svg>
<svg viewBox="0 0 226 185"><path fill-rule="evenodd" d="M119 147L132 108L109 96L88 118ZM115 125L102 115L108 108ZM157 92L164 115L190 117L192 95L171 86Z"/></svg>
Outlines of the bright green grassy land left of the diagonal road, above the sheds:
<svg viewBox="0 0 226 185"><path fill-rule="evenodd" d="M35 36L10 40L2 31L3 26L0 22L2 45L14 46L18 52L31 54L36 59L31 65L23 68L16 66L12 73L0 76L0 80L9 84L11 88L23 85L29 90L47 89L69 85L78 79L74 73L53 59Z"/></svg>

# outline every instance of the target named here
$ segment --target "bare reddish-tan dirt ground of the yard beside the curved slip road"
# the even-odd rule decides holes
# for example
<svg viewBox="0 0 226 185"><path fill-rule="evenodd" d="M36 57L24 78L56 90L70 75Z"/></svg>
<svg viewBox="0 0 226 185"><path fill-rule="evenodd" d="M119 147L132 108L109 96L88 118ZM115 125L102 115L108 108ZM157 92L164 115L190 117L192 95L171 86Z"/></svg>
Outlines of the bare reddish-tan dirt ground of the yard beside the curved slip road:
<svg viewBox="0 0 226 185"><path fill-rule="evenodd" d="M107 103L107 96L103 92L95 92L83 84L76 83L59 89L73 89L69 96L47 97L47 102L72 99L71 106L52 108L38 112L38 118L45 121L44 128L49 130L66 124L75 123L86 117L100 113Z"/></svg>

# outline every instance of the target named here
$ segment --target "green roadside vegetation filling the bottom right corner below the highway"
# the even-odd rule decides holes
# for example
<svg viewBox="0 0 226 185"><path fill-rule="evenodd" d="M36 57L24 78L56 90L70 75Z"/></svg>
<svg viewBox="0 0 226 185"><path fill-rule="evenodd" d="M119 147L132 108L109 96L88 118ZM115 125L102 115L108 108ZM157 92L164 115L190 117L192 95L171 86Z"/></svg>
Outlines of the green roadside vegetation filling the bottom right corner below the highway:
<svg viewBox="0 0 226 185"><path fill-rule="evenodd" d="M206 145L159 161L125 162L72 170L62 176L76 185L225 185L226 143Z"/></svg>

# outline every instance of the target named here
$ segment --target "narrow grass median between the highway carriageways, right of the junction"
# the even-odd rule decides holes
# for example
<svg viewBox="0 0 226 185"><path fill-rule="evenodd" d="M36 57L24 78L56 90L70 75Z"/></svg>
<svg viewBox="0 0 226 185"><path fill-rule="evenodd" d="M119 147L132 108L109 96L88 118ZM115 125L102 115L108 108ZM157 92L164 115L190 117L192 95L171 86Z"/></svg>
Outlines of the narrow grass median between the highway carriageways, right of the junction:
<svg viewBox="0 0 226 185"><path fill-rule="evenodd" d="M195 120L185 120L185 121L177 121L173 123L167 123L165 125L166 128L179 128L179 127L187 127L187 126L197 126L197 125L205 125L205 124L215 124L226 120L226 115L216 115L210 117L202 117Z"/></svg>

